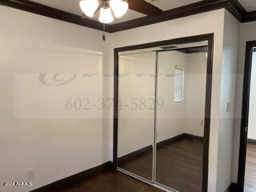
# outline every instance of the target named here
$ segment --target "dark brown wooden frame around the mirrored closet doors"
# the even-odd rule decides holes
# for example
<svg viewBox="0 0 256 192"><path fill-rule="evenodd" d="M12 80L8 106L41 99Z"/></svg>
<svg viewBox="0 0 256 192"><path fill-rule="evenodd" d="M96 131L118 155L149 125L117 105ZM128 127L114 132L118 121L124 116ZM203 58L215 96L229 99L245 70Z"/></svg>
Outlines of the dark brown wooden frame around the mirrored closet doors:
<svg viewBox="0 0 256 192"><path fill-rule="evenodd" d="M174 38L160 42L150 42L135 46L119 47L114 49L114 122L113 122L113 162L114 168L118 169L118 53L128 50L141 50L157 46L169 46L174 44L184 44L190 42L208 42L208 57L206 70L206 106L205 106L205 126L203 139L203 165L202 165L202 192L208 190L208 169L209 169L209 143L210 143L210 109L211 90L214 55L214 34L201 34L185 38Z"/></svg>

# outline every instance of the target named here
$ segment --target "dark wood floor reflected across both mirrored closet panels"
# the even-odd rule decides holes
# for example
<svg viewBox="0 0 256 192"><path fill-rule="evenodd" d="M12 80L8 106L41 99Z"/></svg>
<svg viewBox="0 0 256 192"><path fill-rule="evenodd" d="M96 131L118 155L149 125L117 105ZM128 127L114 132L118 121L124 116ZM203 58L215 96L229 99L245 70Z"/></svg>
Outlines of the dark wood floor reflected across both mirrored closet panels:
<svg viewBox="0 0 256 192"><path fill-rule="evenodd" d="M180 192L202 191L203 142L182 138L157 150L156 181ZM152 178L152 151L119 165L143 178Z"/></svg>

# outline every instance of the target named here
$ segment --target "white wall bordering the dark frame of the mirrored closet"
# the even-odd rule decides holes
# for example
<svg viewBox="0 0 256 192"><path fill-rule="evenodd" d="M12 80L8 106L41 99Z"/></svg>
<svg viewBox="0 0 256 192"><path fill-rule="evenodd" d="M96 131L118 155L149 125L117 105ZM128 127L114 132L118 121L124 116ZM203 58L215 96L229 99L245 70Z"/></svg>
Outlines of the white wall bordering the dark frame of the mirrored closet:
<svg viewBox="0 0 256 192"><path fill-rule="evenodd" d="M216 22L218 21L218 22ZM211 103L211 125L210 125L210 155L209 155L209 192L215 192L217 183L217 162L218 162L218 128L220 114L220 87L222 71L222 42L224 10L214 10L203 14L196 14L186 18L178 18L167 22L160 22L150 26L120 31L110 34L110 57L104 65L104 71L113 74L114 48L131 46L146 42L157 42L172 38L182 38L191 35L214 33L214 68L213 68L213 89ZM105 98L113 97L113 78L105 78L103 84L103 95ZM104 112L104 128L112 132L112 110ZM109 121L107 121L109 119ZM110 151L112 152L112 136L110 137Z"/></svg>

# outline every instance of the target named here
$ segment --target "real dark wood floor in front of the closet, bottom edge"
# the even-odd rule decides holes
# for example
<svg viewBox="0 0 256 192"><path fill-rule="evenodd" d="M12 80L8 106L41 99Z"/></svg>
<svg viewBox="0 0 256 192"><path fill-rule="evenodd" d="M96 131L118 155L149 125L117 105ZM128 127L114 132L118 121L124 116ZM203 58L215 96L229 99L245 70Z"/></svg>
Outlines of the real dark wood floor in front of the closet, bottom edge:
<svg viewBox="0 0 256 192"><path fill-rule="evenodd" d="M84 181L54 192L163 192L117 170L104 170Z"/></svg>

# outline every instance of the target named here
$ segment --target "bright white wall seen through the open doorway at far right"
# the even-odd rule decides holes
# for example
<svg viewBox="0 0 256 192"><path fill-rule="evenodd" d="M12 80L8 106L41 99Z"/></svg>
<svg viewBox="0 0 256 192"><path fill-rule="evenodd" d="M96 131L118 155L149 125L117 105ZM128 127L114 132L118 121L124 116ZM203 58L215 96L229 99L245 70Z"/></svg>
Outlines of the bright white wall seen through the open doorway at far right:
<svg viewBox="0 0 256 192"><path fill-rule="evenodd" d="M256 140L256 52L253 54L250 78L250 112L248 119L248 138Z"/></svg>

